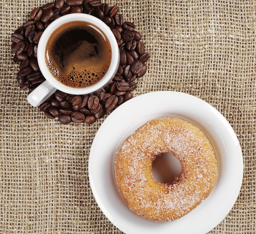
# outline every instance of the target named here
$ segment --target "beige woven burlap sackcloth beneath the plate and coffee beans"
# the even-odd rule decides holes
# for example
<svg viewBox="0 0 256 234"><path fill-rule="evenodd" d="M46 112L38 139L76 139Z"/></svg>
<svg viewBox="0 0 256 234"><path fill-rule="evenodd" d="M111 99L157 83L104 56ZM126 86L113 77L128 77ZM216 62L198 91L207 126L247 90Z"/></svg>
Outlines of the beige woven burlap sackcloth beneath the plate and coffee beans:
<svg viewBox="0 0 256 234"><path fill-rule="evenodd" d="M91 126L60 124L30 106L27 90L16 82L11 34L47 2L0 3L0 234L121 234L99 209L88 179L90 147L106 116ZM133 96L188 93L219 110L234 128L243 152L242 188L232 210L209 233L255 233L256 2L107 3L117 4L124 19L136 24L150 53Z"/></svg>

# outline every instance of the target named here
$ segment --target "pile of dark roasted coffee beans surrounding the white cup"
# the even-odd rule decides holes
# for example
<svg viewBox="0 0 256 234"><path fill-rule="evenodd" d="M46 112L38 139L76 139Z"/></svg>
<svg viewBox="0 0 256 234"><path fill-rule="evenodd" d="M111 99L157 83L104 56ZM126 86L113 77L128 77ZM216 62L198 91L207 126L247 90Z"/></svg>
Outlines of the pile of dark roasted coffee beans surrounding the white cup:
<svg viewBox="0 0 256 234"><path fill-rule="evenodd" d="M57 90L39 109L51 119L57 117L62 124L72 121L93 124L132 98L136 79L146 73L149 55L135 24L124 21L117 5L110 7L99 0L56 0L33 9L30 20L11 35L13 61L20 64L17 81L21 89L29 89L30 93L45 81L37 62L40 36L51 22L70 13L94 15L110 27L120 50L119 68L106 87L89 95L70 95Z"/></svg>

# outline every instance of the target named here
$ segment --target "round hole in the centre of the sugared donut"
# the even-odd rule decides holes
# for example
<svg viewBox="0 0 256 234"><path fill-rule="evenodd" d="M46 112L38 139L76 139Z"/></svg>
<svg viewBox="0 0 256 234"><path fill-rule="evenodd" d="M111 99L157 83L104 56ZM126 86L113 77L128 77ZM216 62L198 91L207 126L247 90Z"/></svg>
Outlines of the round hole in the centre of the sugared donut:
<svg viewBox="0 0 256 234"><path fill-rule="evenodd" d="M169 152L162 153L152 163L153 178L159 183L173 182L180 171L180 161Z"/></svg>

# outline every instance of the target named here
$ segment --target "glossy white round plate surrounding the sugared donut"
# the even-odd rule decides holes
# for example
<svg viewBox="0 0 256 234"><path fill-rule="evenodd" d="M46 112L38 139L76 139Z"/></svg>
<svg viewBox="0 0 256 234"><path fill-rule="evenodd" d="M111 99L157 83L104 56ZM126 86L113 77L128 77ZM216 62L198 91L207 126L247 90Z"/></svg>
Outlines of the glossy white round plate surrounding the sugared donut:
<svg viewBox="0 0 256 234"><path fill-rule="evenodd" d="M207 199L189 214L167 223L132 212L115 183L114 162L121 143L156 117L178 117L198 126L211 141L218 161L218 179ZM243 179L243 156L234 130L215 108L185 93L157 91L130 99L106 118L92 143L88 170L99 208L126 234L205 234L227 216L236 202Z"/></svg>

